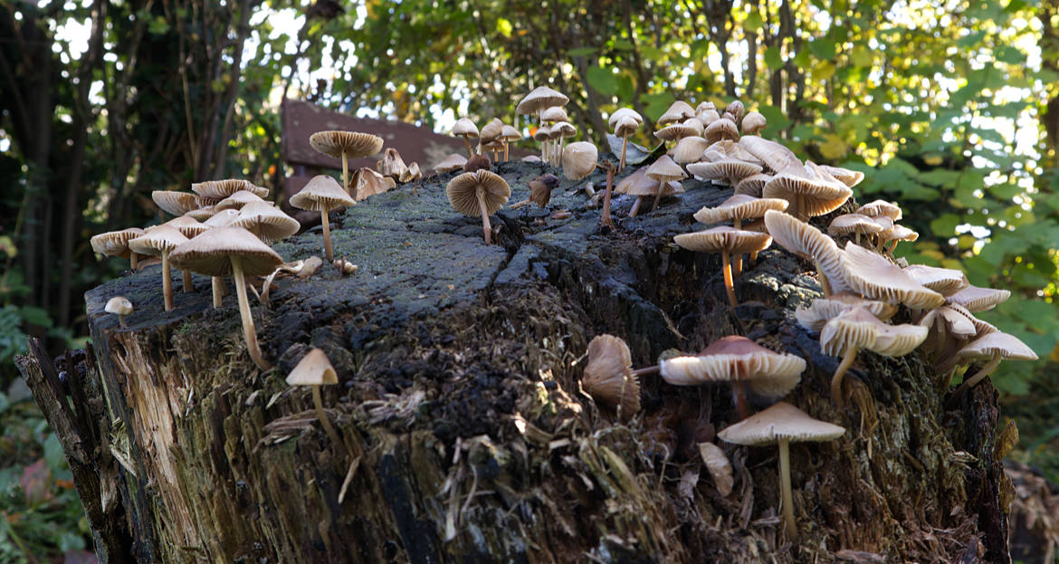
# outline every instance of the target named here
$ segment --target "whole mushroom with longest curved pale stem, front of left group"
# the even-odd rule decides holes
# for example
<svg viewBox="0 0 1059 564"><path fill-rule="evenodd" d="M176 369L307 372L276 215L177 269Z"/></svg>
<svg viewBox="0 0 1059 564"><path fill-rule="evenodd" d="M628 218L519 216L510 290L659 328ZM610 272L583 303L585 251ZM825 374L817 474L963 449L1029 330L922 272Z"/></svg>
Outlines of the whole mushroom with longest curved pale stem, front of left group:
<svg viewBox="0 0 1059 564"><path fill-rule="evenodd" d="M331 181L335 182L335 179L331 178ZM337 187L338 182L335 184ZM246 277L268 276L283 264L283 259L241 227L215 227L174 249L170 259L177 268L213 277L232 276L239 301L239 318L243 321L247 352L262 370L272 368L262 356L257 345L254 318L250 314L250 301L247 299Z"/></svg>

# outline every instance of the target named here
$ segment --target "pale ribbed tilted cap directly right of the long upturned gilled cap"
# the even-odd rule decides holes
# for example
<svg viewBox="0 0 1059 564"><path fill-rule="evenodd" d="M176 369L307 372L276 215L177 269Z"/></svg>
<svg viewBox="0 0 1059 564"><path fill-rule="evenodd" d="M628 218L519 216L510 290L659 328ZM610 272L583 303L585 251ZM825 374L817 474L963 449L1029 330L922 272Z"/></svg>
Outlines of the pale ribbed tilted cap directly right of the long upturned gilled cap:
<svg viewBox="0 0 1059 564"><path fill-rule="evenodd" d="M865 298L903 303L916 310L929 310L945 303L944 296L925 287L901 267L852 241L846 243L842 253L842 271L846 284Z"/></svg>

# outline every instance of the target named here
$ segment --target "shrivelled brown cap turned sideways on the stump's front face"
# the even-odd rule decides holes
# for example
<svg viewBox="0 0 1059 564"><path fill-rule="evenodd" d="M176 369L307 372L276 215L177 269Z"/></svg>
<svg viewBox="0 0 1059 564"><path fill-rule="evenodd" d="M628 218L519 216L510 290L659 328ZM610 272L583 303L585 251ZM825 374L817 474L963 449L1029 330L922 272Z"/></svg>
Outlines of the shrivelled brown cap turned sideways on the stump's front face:
<svg viewBox="0 0 1059 564"><path fill-rule="evenodd" d="M623 417L632 417L640 410L640 381L632 374L629 346L613 335L596 335L588 356L581 387L598 402L621 405Z"/></svg>

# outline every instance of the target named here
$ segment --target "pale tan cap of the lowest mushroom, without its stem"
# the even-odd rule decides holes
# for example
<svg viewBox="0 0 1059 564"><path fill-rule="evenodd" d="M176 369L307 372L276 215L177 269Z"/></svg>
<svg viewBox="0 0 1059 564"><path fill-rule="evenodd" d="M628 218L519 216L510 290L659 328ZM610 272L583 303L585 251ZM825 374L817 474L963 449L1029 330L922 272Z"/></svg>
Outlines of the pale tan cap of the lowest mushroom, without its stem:
<svg viewBox="0 0 1059 564"><path fill-rule="evenodd" d="M772 407L721 429L717 436L726 442L756 446L775 444L783 440L831 441L845 431L845 428L838 425L812 419L787 402L776 402Z"/></svg>

